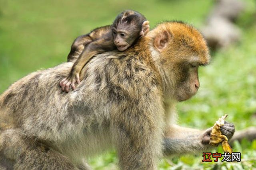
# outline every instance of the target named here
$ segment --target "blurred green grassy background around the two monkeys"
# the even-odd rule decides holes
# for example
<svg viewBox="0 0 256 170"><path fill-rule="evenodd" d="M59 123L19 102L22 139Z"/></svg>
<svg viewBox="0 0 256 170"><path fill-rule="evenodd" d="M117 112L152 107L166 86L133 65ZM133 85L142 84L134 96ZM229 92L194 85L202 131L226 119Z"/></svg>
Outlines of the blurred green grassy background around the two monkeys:
<svg viewBox="0 0 256 170"><path fill-rule="evenodd" d="M212 61L200 68L198 94L177 105L180 125L206 129L227 113L237 131L256 127L255 0L0 0L0 93L30 72L66 62L76 37L111 24L126 9L144 14L151 28L186 21L210 45ZM255 140L232 146L242 162L206 163L199 153L163 158L159 169L256 168ZM114 150L89 159L96 170L116 169L117 162Z"/></svg>

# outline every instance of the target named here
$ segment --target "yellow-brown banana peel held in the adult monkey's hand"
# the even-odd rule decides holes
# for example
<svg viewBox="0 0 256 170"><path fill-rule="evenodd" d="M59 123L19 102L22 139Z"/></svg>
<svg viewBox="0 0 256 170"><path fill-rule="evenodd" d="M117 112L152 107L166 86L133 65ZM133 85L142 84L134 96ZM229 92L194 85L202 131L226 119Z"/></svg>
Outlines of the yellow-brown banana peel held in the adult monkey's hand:
<svg viewBox="0 0 256 170"><path fill-rule="evenodd" d="M222 149L224 152L232 153L232 148L228 144L228 138L225 135L221 134L220 127L224 125L225 119L228 115L224 115L218 119L214 123L214 126L212 128L212 132L210 134L210 145L216 147L219 143L222 143Z"/></svg>

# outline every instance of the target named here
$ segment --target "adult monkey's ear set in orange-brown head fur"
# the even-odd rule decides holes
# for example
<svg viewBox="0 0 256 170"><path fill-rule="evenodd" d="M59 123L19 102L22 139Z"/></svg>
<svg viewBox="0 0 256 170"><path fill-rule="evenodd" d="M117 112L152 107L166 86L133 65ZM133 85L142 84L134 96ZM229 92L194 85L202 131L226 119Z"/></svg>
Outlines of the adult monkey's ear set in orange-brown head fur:
<svg viewBox="0 0 256 170"><path fill-rule="evenodd" d="M154 47L161 52L166 47L168 41L170 40L170 37L170 33L168 33L167 31L162 31L161 33L158 33L154 40Z"/></svg>

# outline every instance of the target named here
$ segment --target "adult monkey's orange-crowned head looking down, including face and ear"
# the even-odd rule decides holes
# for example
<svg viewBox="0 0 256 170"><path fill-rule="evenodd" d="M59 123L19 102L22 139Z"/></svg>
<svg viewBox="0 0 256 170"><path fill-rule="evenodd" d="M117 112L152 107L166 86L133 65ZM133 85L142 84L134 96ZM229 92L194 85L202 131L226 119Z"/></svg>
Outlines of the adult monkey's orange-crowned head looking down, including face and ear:
<svg viewBox="0 0 256 170"><path fill-rule="evenodd" d="M157 51L167 76L166 94L178 102L191 98L200 86L198 67L210 61L206 41L194 27L182 22L166 22L158 25L153 36Z"/></svg>

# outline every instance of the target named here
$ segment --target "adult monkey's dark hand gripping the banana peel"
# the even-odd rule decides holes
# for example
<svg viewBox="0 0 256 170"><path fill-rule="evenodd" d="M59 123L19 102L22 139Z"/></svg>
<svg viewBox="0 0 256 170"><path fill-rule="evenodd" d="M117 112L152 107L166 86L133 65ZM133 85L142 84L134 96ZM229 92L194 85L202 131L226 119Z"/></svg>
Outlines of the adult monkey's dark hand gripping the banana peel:
<svg viewBox="0 0 256 170"><path fill-rule="evenodd" d="M213 127L210 127L204 132L202 137L202 144L207 145L210 143L210 135L211 135L212 129ZM225 121L224 125L220 127L220 131L222 135L225 135L228 139L231 139L235 132L234 124Z"/></svg>

